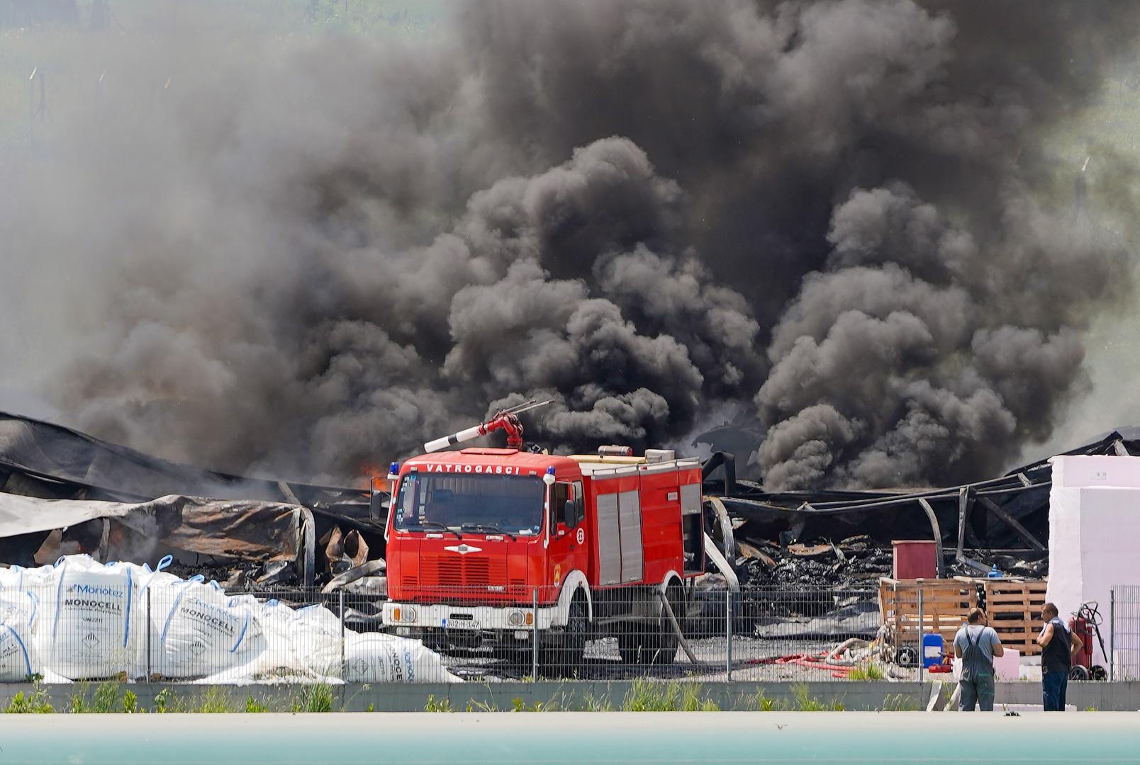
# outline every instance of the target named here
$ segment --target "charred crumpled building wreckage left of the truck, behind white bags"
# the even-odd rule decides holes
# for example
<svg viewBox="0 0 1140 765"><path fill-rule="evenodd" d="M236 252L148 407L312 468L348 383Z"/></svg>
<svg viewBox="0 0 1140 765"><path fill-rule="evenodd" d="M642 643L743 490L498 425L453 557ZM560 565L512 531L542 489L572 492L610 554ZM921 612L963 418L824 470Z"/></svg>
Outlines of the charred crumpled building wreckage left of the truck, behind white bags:
<svg viewBox="0 0 1140 765"><path fill-rule="evenodd" d="M383 559L376 511L363 488L217 472L0 412L3 564L171 554L234 587L315 586Z"/></svg>

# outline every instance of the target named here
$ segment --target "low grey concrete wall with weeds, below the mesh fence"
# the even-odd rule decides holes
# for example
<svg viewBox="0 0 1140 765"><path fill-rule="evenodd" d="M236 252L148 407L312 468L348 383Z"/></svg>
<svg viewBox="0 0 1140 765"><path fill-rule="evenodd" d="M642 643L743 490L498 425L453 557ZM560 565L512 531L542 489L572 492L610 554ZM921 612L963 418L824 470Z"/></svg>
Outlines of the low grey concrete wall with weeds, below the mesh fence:
<svg viewBox="0 0 1140 765"><path fill-rule="evenodd" d="M560 709L587 709L598 702L609 701L614 708L621 708L621 702L629 692L630 682L540 682L540 683L455 683L455 684L401 684L401 685L364 685L353 683L333 688L334 708L344 711L364 711L372 708L375 711L423 711L429 696L437 702L447 700L451 709L464 711L469 705L473 710L512 709L518 700L528 708L535 705L556 705ZM839 702L848 710L880 709L925 709L933 692L939 694L937 707L944 706L943 699L953 690L953 683L940 686L934 683L886 683L886 682L822 682L822 683L701 683L702 698L717 702L725 710L755 708L757 692L779 704L790 704L796 708L796 694L801 688L807 689L808 697L823 702ZM73 685L43 685L51 705L57 711L67 709L68 702L76 693L82 693L89 701L95 696L98 684L76 683ZM298 685L247 685L247 686L213 686L231 699L244 705L249 697L268 700L277 707L290 704L298 697L302 688ZM138 697L138 704L145 709L154 708L154 698L163 689L170 689L176 696L195 697L210 691L205 685L171 685L161 683L131 683L120 686L122 691L130 690ZM0 685L0 709L8 706L16 693L31 694L34 686L30 683L11 683ZM217 691L212 691L217 692ZM799 691L803 692L803 691ZM1039 683L1017 682L997 683L996 701L1010 705L1041 705L1041 685ZM1140 710L1140 682L1127 683L1070 683L1068 702L1077 709L1096 708L1099 710Z"/></svg>

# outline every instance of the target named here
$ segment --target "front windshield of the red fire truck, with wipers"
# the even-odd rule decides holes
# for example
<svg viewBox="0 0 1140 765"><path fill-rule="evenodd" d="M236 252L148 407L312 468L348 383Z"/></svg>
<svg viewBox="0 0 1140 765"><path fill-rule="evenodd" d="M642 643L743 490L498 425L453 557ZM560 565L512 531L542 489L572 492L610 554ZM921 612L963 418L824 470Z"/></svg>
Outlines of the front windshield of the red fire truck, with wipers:
<svg viewBox="0 0 1140 765"><path fill-rule="evenodd" d="M530 476L409 472L396 497L394 528L534 536L543 528L542 479Z"/></svg>

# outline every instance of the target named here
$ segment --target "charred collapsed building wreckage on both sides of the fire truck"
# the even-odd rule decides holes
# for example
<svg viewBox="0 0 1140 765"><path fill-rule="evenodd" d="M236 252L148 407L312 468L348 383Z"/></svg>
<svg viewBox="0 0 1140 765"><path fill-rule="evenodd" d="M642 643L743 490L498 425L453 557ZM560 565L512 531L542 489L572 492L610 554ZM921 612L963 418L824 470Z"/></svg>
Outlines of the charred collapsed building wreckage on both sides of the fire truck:
<svg viewBox="0 0 1140 765"><path fill-rule="evenodd" d="M1140 454L1140 428L1066 454ZM945 576L997 565L1040 578L1048 573L1049 468L1040 460L950 487L768 492L738 477L733 454L716 452L703 466L706 526L746 593L871 584L890 573L891 541L901 538L938 542ZM347 586L383 595L386 501L364 488L180 464L0 412L0 562L8 565L74 553L136 562L171 554L179 574L231 587Z"/></svg>

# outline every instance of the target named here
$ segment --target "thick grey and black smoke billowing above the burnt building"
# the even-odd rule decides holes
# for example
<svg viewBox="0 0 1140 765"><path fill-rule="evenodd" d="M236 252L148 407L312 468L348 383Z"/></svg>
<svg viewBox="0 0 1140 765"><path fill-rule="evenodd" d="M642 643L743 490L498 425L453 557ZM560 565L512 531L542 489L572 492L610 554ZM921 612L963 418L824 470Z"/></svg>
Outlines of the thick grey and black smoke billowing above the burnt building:
<svg viewBox="0 0 1140 765"><path fill-rule="evenodd" d="M1133 163L1048 147L1140 5L88 5L0 31L0 408L351 480L544 396L557 449L732 419L773 490L1115 425L1066 416L1119 397L1086 345L1130 315Z"/></svg>

